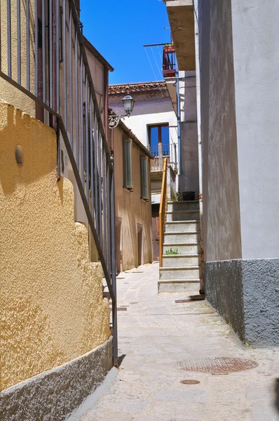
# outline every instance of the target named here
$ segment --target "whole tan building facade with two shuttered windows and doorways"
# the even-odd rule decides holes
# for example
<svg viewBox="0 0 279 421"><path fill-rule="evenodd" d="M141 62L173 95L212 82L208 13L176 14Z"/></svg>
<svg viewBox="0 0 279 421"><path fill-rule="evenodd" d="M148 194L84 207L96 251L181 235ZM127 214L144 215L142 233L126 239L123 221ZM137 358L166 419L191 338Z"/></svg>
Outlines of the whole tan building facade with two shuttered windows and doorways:
<svg viewBox="0 0 279 421"><path fill-rule="evenodd" d="M153 155L121 121L111 130L114 156L116 269L152 262L151 177Z"/></svg>

